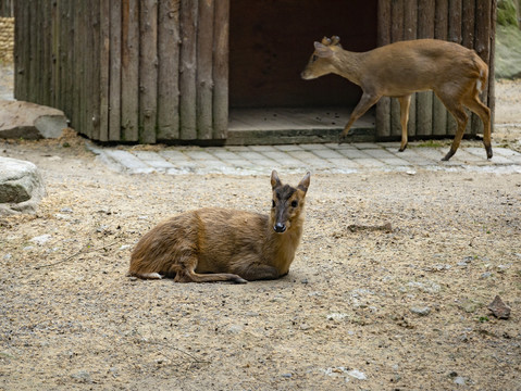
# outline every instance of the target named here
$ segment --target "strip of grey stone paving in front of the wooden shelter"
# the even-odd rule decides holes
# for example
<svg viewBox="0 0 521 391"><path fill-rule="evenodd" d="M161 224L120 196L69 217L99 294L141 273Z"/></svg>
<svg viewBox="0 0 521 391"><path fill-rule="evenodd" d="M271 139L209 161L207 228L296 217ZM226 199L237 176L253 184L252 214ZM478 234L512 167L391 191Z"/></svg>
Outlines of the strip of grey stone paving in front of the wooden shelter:
<svg viewBox="0 0 521 391"><path fill-rule="evenodd" d="M409 146L398 152L395 142L350 144L288 144L251 147L165 147L156 151L104 148L90 144L90 150L111 168L127 174L269 174L273 168L285 173L306 171L323 173L447 172L521 173L521 153L508 148L494 148L486 160L483 148L460 147L449 162L442 162L448 147Z"/></svg>

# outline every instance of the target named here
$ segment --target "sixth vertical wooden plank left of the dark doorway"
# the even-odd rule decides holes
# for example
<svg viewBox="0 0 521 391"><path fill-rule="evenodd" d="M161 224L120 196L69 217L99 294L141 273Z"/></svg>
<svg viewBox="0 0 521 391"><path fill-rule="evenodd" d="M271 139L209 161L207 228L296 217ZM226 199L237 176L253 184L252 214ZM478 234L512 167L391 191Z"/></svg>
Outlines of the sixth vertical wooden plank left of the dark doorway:
<svg viewBox="0 0 521 391"><path fill-rule="evenodd" d="M121 139L139 139L139 0L122 1Z"/></svg>

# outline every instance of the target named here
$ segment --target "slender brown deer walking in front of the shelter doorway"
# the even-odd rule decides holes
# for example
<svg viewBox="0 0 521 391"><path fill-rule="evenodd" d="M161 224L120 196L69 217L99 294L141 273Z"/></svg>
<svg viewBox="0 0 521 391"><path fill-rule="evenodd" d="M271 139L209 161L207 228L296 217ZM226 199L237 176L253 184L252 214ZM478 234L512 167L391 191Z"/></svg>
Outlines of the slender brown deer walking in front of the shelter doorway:
<svg viewBox="0 0 521 391"><path fill-rule="evenodd" d="M491 110L480 101L486 85L488 66L470 49L436 39L419 39L390 43L364 53L344 50L338 37L314 42L314 52L301 73L313 79L331 73L343 76L362 88L362 98L340 135L348 135L351 125L382 97L395 97L400 102L401 144L407 148L407 123L412 93L433 90L458 123L458 130L444 161L458 150L467 126L467 106L483 121L483 143L487 159L492 157Z"/></svg>

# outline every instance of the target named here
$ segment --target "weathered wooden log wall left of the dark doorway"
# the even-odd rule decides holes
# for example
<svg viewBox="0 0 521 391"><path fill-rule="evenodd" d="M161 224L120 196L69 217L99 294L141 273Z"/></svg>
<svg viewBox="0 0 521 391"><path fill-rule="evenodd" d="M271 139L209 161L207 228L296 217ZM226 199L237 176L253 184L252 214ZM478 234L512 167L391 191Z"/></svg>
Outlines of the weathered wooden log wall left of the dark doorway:
<svg viewBox="0 0 521 391"><path fill-rule="evenodd" d="M15 97L100 141L224 139L228 0L24 0Z"/></svg>

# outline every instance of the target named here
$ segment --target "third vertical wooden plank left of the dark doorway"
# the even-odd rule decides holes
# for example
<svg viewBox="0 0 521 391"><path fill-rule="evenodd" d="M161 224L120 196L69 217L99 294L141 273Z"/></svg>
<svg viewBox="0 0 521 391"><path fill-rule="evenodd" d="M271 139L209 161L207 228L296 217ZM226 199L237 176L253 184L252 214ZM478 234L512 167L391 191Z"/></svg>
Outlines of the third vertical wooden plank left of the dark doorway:
<svg viewBox="0 0 521 391"><path fill-rule="evenodd" d="M196 127L196 55L198 1L181 0L179 119L181 139L195 140Z"/></svg>

